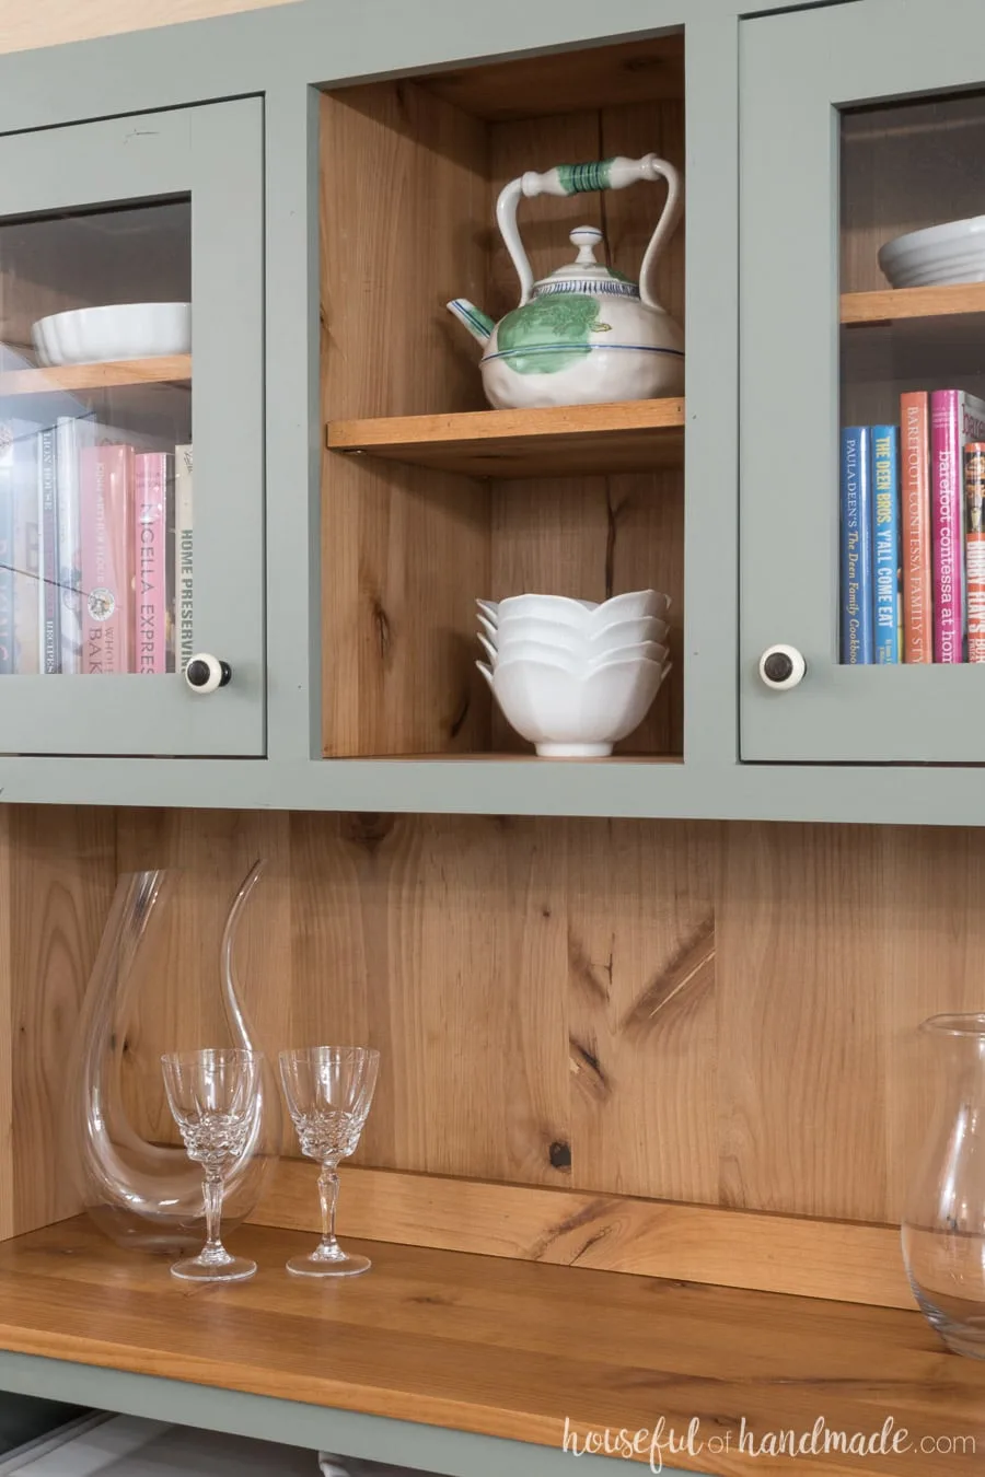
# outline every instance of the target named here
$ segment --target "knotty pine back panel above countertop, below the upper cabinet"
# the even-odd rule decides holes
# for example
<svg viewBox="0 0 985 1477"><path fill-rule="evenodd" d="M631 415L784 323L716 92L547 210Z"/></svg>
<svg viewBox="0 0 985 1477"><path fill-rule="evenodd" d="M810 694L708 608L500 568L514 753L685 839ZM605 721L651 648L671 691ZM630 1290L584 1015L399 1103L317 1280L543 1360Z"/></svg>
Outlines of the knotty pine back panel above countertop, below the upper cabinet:
<svg viewBox="0 0 985 1477"><path fill-rule="evenodd" d="M914 1028L984 1004L979 830L120 811L121 867L191 873L154 1071L174 1022L217 1029L260 854L247 1003L267 1050L381 1049L363 1165L892 1221Z"/></svg>

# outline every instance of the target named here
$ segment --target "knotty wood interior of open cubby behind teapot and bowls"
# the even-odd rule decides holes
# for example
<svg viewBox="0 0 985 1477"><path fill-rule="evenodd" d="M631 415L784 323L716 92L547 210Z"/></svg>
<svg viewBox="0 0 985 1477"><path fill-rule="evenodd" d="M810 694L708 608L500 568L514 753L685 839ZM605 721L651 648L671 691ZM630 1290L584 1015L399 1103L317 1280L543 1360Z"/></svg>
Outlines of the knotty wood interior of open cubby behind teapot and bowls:
<svg viewBox="0 0 985 1477"><path fill-rule="evenodd" d="M320 100L322 412L338 422L484 409L478 346L447 313L468 297L495 319L517 304L495 229L501 188L524 170L656 152L684 167L684 38L372 83ZM638 279L663 189L524 199L536 276L569 260L579 225ZM684 229L657 297L684 321ZM679 402L639 402L665 424L635 430L632 471L586 446L551 476L471 477L393 455L323 452L322 752L532 753L493 710L474 662L476 598L538 591L604 600L653 586L672 597L673 671L617 753L673 758L684 731L684 468ZM582 408L572 408L577 425ZM598 424L601 406L589 406ZM626 408L622 408L623 411ZM545 412L509 412L536 437ZM557 415L558 412L548 412ZM616 411L613 411L616 414ZM382 422L381 422L382 424ZM458 422L456 422L458 424ZM465 439L468 422L461 422ZM474 424L474 421L473 421ZM498 422L493 422L498 424ZM577 455L577 453L576 453ZM418 452L415 461L427 459ZM560 465L560 464L558 464ZM579 465L576 461L574 465ZM546 470L546 468L545 468Z"/></svg>

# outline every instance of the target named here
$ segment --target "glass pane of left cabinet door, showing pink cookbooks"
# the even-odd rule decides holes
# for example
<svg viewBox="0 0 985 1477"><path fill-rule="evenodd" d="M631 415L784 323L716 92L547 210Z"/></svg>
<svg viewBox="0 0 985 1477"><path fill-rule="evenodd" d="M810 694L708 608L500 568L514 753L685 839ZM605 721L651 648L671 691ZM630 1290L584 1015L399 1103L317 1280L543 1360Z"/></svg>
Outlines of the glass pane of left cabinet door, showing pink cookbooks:
<svg viewBox="0 0 985 1477"><path fill-rule="evenodd" d="M0 675L188 662L191 217L0 223Z"/></svg>

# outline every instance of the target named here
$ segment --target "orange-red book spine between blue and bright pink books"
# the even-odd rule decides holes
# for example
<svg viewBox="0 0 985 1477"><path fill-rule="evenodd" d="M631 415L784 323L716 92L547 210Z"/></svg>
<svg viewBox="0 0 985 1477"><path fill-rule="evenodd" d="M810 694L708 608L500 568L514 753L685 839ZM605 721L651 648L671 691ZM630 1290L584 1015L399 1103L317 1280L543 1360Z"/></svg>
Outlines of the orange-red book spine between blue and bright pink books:
<svg viewBox="0 0 985 1477"><path fill-rule="evenodd" d="M930 414L927 391L899 396L902 659L933 662Z"/></svg>

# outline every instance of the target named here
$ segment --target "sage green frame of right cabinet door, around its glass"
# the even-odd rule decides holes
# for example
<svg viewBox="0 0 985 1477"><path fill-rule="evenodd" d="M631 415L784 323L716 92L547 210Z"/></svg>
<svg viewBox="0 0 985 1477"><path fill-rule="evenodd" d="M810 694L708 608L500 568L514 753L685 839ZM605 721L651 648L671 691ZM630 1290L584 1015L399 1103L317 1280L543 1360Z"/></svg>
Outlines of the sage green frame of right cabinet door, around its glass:
<svg viewBox="0 0 985 1477"><path fill-rule="evenodd" d="M839 109L982 84L981 15L975 0L865 0L741 28L744 759L985 762L978 666L837 660ZM756 674L775 641L806 657L789 693Z"/></svg>

